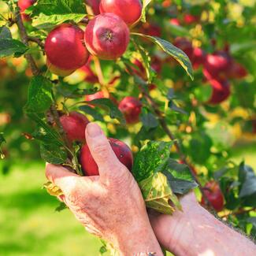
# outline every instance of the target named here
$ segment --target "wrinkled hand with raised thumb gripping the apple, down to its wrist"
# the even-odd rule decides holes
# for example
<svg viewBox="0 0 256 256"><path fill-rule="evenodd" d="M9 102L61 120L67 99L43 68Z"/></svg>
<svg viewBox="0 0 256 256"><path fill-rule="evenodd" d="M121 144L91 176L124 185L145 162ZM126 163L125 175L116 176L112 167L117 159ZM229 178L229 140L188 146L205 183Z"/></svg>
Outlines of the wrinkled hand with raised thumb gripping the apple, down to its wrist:
<svg viewBox="0 0 256 256"><path fill-rule="evenodd" d="M61 200L87 231L112 243L122 255L162 255L132 173L118 161L97 124L87 125L86 140L99 176L77 176L47 164L47 179L61 188Z"/></svg>

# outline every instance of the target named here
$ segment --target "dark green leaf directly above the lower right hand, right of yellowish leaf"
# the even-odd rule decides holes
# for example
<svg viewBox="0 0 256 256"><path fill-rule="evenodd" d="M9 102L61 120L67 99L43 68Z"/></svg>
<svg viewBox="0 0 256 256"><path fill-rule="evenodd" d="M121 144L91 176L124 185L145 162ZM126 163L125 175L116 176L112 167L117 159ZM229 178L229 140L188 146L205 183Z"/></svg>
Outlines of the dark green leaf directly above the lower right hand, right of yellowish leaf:
<svg viewBox="0 0 256 256"><path fill-rule="evenodd" d="M198 184L191 175L189 167L171 158L169 158L169 162L165 166L163 173L167 177L173 193L184 195L191 191L191 189L198 187Z"/></svg>

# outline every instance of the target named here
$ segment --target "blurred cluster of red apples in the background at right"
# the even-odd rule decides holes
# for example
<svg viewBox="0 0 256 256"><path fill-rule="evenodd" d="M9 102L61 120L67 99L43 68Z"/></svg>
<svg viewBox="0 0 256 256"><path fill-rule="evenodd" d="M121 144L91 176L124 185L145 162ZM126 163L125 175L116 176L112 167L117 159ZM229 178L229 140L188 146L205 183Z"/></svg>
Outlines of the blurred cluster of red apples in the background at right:
<svg viewBox="0 0 256 256"><path fill-rule="evenodd" d="M174 44L183 50L190 58L194 69L202 66L206 83L212 87L209 99L211 105L224 102L231 94L229 80L243 79L247 76L247 69L240 65L229 53L228 47L207 54L199 47L193 47L185 38L176 38Z"/></svg>

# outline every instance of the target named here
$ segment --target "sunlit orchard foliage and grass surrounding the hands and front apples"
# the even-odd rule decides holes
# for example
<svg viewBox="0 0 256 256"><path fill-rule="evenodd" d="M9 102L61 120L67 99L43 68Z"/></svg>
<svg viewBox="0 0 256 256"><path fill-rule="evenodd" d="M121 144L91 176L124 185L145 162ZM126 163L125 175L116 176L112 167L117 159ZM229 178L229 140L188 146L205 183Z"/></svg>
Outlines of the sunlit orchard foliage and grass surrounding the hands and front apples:
<svg viewBox="0 0 256 256"><path fill-rule="evenodd" d="M61 139L50 143L54 132L63 135L56 118L72 111L97 121L135 157L148 140L173 141L172 171L163 171L173 192L183 194L174 181L185 190L194 186L190 170L198 201L256 236L256 1L155 0L143 6L121 58L90 57L61 77L46 65L46 37L64 23L84 31L95 7L39 0L26 13L20 6L20 16L17 1L0 1L0 254L98 254L98 239L69 210L54 211L58 201L41 189L43 160L80 171L81 143L65 144L71 156ZM129 113L121 107L125 97L134 97Z"/></svg>

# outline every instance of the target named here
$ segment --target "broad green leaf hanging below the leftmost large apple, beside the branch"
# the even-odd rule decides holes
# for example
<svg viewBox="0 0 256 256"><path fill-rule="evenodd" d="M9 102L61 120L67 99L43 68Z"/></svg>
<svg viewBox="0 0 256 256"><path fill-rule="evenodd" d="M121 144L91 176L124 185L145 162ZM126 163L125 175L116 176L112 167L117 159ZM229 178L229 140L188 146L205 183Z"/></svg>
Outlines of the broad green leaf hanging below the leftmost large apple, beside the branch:
<svg viewBox="0 0 256 256"><path fill-rule="evenodd" d="M53 98L52 83L44 76L34 76L28 88L28 102L24 106L26 113L43 113L50 108Z"/></svg>

